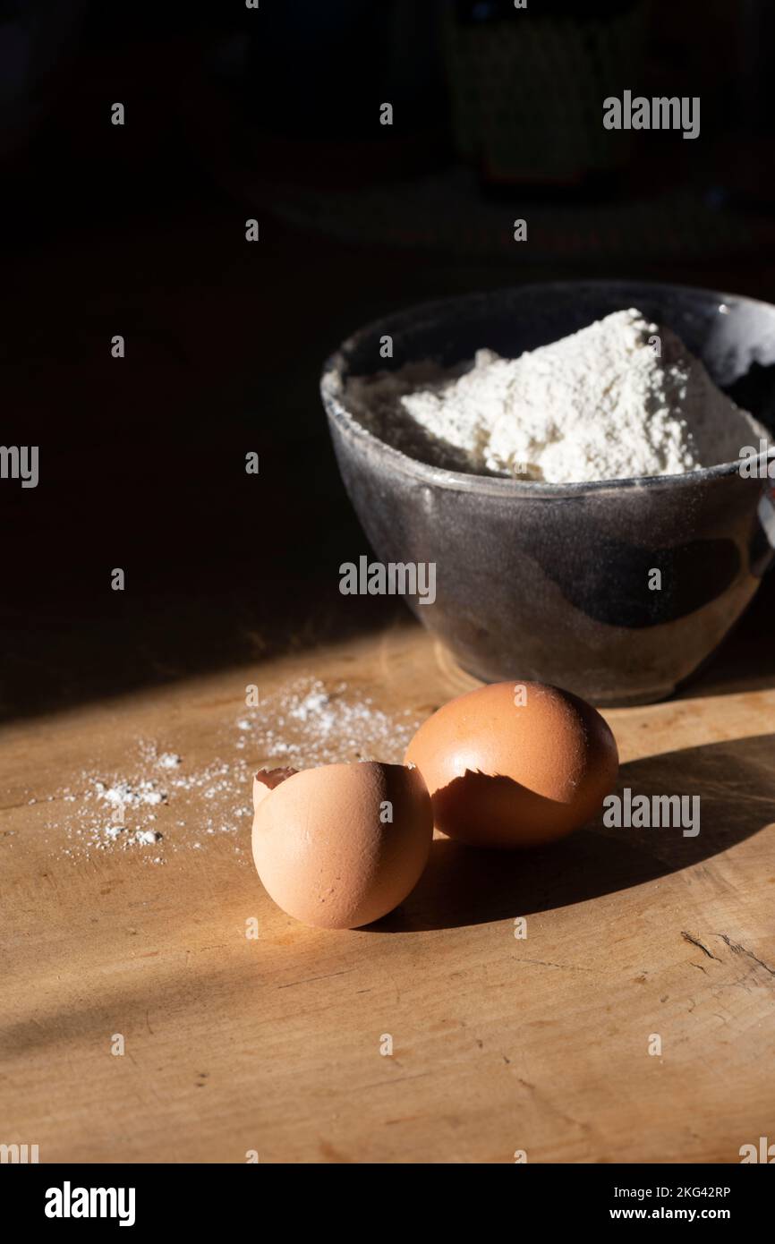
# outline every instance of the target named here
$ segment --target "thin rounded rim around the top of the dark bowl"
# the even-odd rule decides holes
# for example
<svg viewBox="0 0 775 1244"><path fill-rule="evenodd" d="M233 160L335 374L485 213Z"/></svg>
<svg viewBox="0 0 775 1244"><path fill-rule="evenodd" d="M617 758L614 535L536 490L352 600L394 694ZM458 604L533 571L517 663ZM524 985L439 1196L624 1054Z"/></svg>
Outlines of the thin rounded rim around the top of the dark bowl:
<svg viewBox="0 0 775 1244"><path fill-rule="evenodd" d="M435 466L419 458L412 458L402 449L388 444L381 437L366 428L346 407L343 401L343 374L348 358L360 342L368 336L382 336L379 330L386 330L388 325L397 320L406 320L411 316L428 317L449 309L455 302L459 306L466 302L481 302L494 295L530 294L534 290L555 290L557 292L588 289L643 289L648 291L672 291L677 294L704 295L718 301L719 306L728 304L741 304L746 306L765 307L775 317L775 305L765 302L764 299L753 299L745 294L731 294L722 290L707 289L700 285L678 285L671 281L641 281L633 280L607 280L607 279L580 279L567 281L530 281L525 285L504 285L494 290L476 290L470 294L457 294L443 299L430 299L425 302L417 302L412 306L392 311L378 320L372 320L355 332L350 333L341 345L326 358L321 378L320 392L328 422L333 424L343 435L361 443L362 448L384 459L386 465L392 466L398 474L408 475L424 484L433 484L437 488L447 488L463 493L484 493L496 496L531 496L531 498L560 498L578 496L582 493L601 493L606 490L621 490L634 488L648 489L677 489L690 488L704 484L709 480L722 479L728 475L739 474L740 459L729 463L718 463L714 466L700 466L697 470L684 471L680 475L627 475L618 479L576 480L567 484L547 483L545 480L511 479L504 475L476 475L469 471L448 470L445 466ZM750 414L750 412L746 412ZM755 418L755 415L751 415ZM768 463L775 450L775 435L770 448L756 454L756 463ZM755 476L758 483L768 484L765 475Z"/></svg>

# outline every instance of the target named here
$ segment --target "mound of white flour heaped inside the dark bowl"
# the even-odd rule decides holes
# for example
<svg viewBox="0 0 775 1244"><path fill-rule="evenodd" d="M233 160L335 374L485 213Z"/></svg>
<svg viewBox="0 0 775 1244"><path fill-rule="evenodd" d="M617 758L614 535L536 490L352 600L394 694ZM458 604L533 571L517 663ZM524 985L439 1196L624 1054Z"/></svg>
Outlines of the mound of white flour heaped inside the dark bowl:
<svg viewBox="0 0 775 1244"><path fill-rule="evenodd" d="M452 470L547 483L677 475L738 459L759 425L667 327L631 307L519 358L348 382L377 435Z"/></svg>

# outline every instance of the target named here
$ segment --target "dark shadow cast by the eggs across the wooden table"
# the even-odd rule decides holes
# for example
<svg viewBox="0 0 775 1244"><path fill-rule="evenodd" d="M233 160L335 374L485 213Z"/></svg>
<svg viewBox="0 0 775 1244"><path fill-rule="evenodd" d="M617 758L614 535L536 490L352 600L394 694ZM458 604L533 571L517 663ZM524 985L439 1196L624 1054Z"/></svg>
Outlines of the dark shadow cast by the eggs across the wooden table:
<svg viewBox="0 0 775 1244"><path fill-rule="evenodd" d="M568 907L702 863L775 821L775 734L667 751L622 765L618 792L698 795L700 831L606 829L598 822L534 851L433 842L418 886L373 932L484 924Z"/></svg>

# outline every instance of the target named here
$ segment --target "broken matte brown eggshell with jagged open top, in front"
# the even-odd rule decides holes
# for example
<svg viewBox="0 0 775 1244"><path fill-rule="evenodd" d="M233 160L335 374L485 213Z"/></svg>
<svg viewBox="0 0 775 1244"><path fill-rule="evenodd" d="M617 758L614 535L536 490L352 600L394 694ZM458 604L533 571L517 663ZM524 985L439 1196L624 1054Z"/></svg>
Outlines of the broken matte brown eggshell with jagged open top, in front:
<svg viewBox="0 0 775 1244"><path fill-rule="evenodd" d="M386 805L392 807L392 821ZM253 857L279 907L318 928L358 928L414 888L433 837L415 769L363 761L286 778L260 799Z"/></svg>

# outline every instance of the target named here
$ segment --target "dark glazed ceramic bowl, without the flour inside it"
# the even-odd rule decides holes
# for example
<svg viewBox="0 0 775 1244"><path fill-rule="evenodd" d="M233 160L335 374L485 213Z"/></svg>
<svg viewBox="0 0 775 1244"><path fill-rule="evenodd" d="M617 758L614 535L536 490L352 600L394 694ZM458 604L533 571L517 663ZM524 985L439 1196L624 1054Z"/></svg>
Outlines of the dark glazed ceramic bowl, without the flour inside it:
<svg viewBox="0 0 775 1244"><path fill-rule="evenodd" d="M568 281L425 304L362 328L326 363L345 485L383 562L435 562L434 603L407 602L486 682L540 679L598 704L663 699L717 648L773 560L775 509L739 463L685 475L539 484L409 458L346 408L382 367L515 357L634 306L673 328L738 404L775 425L775 307L710 290ZM393 338L382 360L381 338ZM759 448L751 437L751 444ZM662 571L662 590L648 587Z"/></svg>

